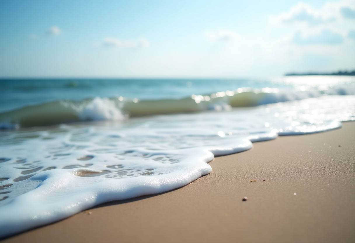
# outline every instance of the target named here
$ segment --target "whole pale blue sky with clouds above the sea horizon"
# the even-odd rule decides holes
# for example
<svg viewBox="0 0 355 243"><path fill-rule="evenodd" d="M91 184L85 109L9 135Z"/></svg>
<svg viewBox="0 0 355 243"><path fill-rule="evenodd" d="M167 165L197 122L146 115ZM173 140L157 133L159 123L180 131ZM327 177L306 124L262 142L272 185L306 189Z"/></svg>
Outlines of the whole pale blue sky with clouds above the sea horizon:
<svg viewBox="0 0 355 243"><path fill-rule="evenodd" d="M355 0L0 0L0 77L355 70Z"/></svg>

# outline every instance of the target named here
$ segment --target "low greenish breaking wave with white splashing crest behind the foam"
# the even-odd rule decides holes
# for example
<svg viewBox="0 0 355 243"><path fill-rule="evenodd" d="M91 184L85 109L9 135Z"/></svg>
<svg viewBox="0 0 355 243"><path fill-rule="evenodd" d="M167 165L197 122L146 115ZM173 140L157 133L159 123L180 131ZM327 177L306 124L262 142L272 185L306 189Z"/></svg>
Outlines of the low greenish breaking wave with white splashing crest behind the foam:
<svg viewBox="0 0 355 243"><path fill-rule="evenodd" d="M155 114L230 110L262 104L295 101L324 95L353 95L355 90L338 85L328 90L287 90L238 88L182 99L138 100L125 97L60 100L0 113L0 129L46 126L78 121L124 120Z"/></svg>

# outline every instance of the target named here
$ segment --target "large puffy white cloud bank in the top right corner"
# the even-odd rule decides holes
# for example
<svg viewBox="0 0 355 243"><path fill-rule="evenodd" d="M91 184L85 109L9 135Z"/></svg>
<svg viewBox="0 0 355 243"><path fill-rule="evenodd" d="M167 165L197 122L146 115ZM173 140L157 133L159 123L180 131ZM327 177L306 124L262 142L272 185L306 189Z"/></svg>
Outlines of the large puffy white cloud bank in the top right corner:
<svg viewBox="0 0 355 243"><path fill-rule="evenodd" d="M354 26L353 9L354 0L329 1L319 9L299 2L289 11L271 17L283 31L277 42L285 46L312 47L346 44L345 37Z"/></svg>

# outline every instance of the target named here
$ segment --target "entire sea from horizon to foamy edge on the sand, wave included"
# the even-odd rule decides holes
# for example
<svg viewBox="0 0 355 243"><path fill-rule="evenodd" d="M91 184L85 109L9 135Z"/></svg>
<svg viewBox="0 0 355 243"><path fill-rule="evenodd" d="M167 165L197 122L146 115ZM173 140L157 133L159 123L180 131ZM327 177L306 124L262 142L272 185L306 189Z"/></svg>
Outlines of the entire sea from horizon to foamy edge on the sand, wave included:
<svg viewBox="0 0 355 243"><path fill-rule="evenodd" d="M355 78L1 80L0 237L211 173L214 156L355 119Z"/></svg>

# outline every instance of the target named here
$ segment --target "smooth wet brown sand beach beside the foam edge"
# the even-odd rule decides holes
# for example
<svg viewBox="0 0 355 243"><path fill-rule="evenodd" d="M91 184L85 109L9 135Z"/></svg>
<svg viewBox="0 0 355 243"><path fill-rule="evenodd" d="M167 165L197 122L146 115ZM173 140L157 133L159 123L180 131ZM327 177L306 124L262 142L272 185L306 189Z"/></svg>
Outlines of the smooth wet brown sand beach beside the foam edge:
<svg viewBox="0 0 355 243"><path fill-rule="evenodd" d="M355 242L355 122L256 142L209 164L211 174L185 187L3 242Z"/></svg>

